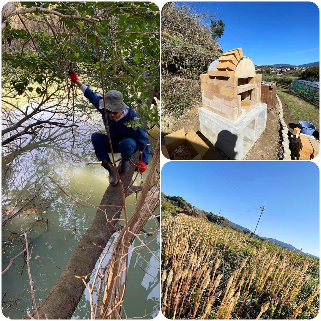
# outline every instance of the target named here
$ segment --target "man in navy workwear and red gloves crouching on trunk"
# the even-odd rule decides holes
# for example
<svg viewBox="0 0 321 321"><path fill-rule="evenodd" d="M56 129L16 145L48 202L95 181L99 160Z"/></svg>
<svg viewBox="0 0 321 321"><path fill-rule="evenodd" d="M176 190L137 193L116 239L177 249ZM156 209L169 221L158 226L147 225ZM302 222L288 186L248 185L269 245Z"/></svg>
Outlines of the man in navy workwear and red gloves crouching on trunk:
<svg viewBox="0 0 321 321"><path fill-rule="evenodd" d="M90 88L83 85L77 77L74 69L68 71L68 76L71 81L76 84L84 96L95 106L100 112L104 122L106 132L107 123L104 111L103 98L94 93ZM147 133L142 128L133 129L125 125L128 121L139 116L134 110L124 103L123 94L117 90L111 90L105 94L105 108L107 114L107 122L109 127L110 140L113 152L121 153L121 162L119 170L126 173L129 170L130 157L137 151L142 152L140 160L135 164L136 171L143 173L146 170L150 154L150 141ZM94 146L97 159L101 161L101 166L109 172L109 184L115 186L118 183L118 177L113 163L111 162L108 153L110 153L110 145L108 135L102 133L93 133L91 142Z"/></svg>

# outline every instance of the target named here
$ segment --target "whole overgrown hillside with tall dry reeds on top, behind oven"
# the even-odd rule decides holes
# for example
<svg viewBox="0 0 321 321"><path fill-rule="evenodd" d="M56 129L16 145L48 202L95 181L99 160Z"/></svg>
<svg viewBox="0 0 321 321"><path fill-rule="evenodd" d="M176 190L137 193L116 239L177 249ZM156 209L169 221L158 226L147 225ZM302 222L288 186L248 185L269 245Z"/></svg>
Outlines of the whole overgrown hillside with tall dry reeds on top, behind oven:
<svg viewBox="0 0 321 321"><path fill-rule="evenodd" d="M162 8L162 110L175 118L201 100L200 74L221 48L204 15L173 2Z"/></svg>

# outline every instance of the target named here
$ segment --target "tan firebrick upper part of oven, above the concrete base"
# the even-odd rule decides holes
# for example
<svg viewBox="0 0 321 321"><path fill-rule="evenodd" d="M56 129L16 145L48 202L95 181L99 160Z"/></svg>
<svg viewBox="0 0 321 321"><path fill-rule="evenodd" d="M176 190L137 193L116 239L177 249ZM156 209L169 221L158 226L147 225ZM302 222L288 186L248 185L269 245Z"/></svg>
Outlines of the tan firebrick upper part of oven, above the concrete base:
<svg viewBox="0 0 321 321"><path fill-rule="evenodd" d="M216 62L216 70L201 75L203 107L233 122L257 107L261 98L262 75L255 74L254 65L254 74L236 76L242 59L242 48L227 51Z"/></svg>

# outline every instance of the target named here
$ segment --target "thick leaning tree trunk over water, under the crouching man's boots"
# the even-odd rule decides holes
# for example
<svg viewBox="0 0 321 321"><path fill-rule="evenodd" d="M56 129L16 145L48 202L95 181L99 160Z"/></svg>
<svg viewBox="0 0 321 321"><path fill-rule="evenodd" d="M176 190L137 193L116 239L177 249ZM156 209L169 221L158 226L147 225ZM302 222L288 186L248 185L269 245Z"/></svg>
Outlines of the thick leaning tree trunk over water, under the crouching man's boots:
<svg viewBox="0 0 321 321"><path fill-rule="evenodd" d="M132 163L135 164L138 158L139 153L135 153ZM120 174L125 191L134 174L132 163L126 174ZM79 241L56 284L38 307L40 318L45 319L45 314L48 319L69 319L72 316L85 289L82 280L77 279L75 275L91 274L111 235L118 230L117 220L106 224L106 217L108 220L118 219L121 211L119 207L107 205L123 206L119 183L116 186L108 186L91 226Z"/></svg>

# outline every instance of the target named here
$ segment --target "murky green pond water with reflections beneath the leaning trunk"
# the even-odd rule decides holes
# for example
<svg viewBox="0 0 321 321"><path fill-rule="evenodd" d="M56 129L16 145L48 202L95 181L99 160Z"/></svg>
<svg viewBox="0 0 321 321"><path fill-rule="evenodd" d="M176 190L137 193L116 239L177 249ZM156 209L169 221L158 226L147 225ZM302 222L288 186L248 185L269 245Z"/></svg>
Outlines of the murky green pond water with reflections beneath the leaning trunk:
<svg viewBox="0 0 321 321"><path fill-rule="evenodd" d="M2 156L3 219L22 205L24 211L2 228L2 270L10 258L22 251L23 229L27 230L30 250L30 269L34 282L36 302L39 305L58 279L74 248L90 226L96 209L82 204L99 205L108 187L107 171L96 162L90 134L103 130L99 116L82 117L74 131L45 129L43 138L32 140L18 151ZM158 137L158 131L151 134ZM152 141L152 149L155 141ZM116 154L116 159L119 154ZM147 176L148 170L138 175L135 185ZM50 176L57 185L48 178ZM30 203L24 201L32 199ZM18 202L17 207L14 208ZM135 195L126 198L130 216L136 203ZM11 204L11 205L9 205ZM4 206L5 205L5 206ZM30 208L31 207L31 208ZM4 212L5 211L5 212ZM159 209L155 211L159 213ZM122 218L122 216L121 216ZM159 224L150 220L145 228L155 230L152 236L141 235L149 250L159 257ZM23 237L24 239L24 237ZM135 240L133 247L141 245ZM142 247L129 256L128 281L123 304L124 317L152 318L159 311L159 261ZM106 257L105 261L108 261ZM2 276L2 312L5 317L21 319L32 310L27 266L23 256L18 257ZM85 290L72 318L90 317L89 296Z"/></svg>

